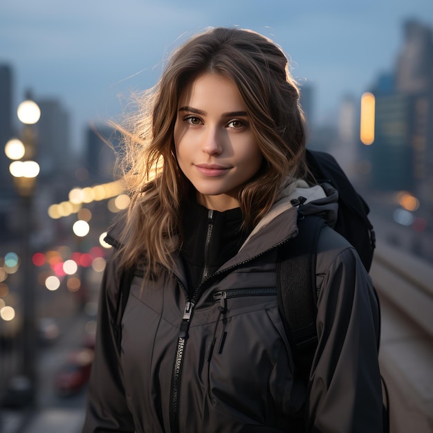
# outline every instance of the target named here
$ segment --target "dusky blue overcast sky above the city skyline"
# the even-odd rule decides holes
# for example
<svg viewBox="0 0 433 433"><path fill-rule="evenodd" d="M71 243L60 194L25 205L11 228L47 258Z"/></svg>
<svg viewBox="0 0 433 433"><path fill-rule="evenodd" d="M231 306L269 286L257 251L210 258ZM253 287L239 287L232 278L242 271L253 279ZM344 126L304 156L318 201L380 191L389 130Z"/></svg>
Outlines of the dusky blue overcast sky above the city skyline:
<svg viewBox="0 0 433 433"><path fill-rule="evenodd" d="M293 75L314 86L323 122L344 95L358 98L394 68L409 18L433 26L433 0L1 0L0 63L12 66L15 104L25 89L59 99L80 145L84 127L152 86L188 36L251 28L282 46Z"/></svg>

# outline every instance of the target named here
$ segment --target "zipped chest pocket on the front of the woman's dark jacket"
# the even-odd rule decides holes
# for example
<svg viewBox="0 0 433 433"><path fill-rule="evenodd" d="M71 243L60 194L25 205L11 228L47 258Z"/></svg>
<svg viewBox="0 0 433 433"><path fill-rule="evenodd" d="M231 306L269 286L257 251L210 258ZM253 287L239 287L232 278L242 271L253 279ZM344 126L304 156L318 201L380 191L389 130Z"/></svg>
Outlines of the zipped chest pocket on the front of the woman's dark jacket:
<svg viewBox="0 0 433 433"><path fill-rule="evenodd" d="M291 351L276 288L232 288L212 295L219 308L208 349L208 392L252 418L282 407L293 380ZM270 402L273 402L270 404Z"/></svg>

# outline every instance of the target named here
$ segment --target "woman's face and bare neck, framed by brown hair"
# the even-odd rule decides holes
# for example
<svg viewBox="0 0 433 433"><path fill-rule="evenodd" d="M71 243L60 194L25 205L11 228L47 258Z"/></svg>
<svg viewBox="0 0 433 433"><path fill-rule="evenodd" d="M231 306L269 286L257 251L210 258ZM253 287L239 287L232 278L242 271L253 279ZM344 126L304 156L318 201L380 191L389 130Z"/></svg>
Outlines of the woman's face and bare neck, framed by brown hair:
<svg viewBox="0 0 433 433"><path fill-rule="evenodd" d="M239 206L239 188L263 159L236 84L214 73L199 75L181 93L174 144L197 201L220 212Z"/></svg>

